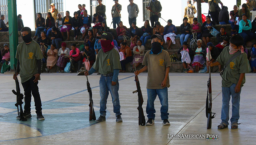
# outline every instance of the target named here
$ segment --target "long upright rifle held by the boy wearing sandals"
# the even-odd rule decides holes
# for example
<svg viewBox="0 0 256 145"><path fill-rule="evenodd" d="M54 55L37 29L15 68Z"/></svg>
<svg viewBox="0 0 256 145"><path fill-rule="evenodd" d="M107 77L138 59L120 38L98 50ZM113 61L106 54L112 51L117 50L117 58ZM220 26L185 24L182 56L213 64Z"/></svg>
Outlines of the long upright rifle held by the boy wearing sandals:
<svg viewBox="0 0 256 145"><path fill-rule="evenodd" d="M210 61L210 48L208 46L208 61ZM216 113L212 113L212 82L211 82L211 66L209 66L209 80L207 81L207 97L206 97L206 117L207 129L212 128L212 118L216 116ZM212 115L213 114L213 115Z"/></svg>

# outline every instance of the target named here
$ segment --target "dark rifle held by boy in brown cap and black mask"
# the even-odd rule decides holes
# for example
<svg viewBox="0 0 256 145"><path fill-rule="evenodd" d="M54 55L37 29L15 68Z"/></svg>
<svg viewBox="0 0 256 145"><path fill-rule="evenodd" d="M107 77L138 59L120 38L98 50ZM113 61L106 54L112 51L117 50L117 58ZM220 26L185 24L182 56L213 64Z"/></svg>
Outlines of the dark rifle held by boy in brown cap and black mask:
<svg viewBox="0 0 256 145"><path fill-rule="evenodd" d="M135 71L137 71L135 63L134 63L134 68L135 68ZM145 116L144 116L143 109L142 109L143 97L142 97L142 93L141 93L141 89L140 89L140 81L139 81L139 78L137 75L135 75L135 82L136 82L137 90L133 91L132 93L133 94L138 93L139 107L137 109L139 110L139 125L144 126L146 124L146 120L145 120Z"/></svg>

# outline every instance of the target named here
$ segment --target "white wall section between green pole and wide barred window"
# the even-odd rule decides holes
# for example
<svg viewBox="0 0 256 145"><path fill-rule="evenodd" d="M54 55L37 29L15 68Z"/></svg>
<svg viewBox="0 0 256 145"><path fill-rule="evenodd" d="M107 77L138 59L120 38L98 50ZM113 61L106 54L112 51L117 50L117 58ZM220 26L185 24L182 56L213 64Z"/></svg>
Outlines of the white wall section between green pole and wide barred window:
<svg viewBox="0 0 256 145"><path fill-rule="evenodd" d="M30 27L35 30L34 1L33 0L17 0L17 16L21 14L24 27Z"/></svg>

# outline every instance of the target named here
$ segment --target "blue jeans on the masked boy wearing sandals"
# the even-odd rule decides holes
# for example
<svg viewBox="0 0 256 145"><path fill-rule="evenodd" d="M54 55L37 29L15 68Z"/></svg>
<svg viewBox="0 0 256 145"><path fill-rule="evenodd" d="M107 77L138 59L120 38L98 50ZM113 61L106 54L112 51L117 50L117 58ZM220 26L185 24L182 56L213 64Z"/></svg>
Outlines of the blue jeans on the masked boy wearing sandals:
<svg viewBox="0 0 256 145"><path fill-rule="evenodd" d="M222 87L222 109L221 109L221 122L229 125L229 101L230 95L232 96L232 117L230 122L237 123L239 119L239 107L240 107L240 93L235 93L236 84L232 84L229 88Z"/></svg>

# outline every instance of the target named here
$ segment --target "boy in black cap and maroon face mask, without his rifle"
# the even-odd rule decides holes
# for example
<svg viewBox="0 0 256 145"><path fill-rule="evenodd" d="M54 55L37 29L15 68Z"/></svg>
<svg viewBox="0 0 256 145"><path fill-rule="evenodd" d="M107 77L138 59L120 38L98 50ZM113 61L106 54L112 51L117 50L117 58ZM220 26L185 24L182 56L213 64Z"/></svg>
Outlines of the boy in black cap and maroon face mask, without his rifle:
<svg viewBox="0 0 256 145"><path fill-rule="evenodd" d="M101 96L100 100L100 116L96 119L96 122L102 122L106 120L106 108L107 108L107 98L108 91L112 96L112 103L114 106L114 113L116 113L116 122L122 122L120 113L120 102L119 102L119 83L118 83L118 74L121 69L120 56L118 52L113 49L114 46L111 44L113 41L113 35L109 32L103 33L101 36L101 47L99 50L97 59L89 71L85 71L84 75L91 75L96 70L101 74L99 80L99 94Z"/></svg>

